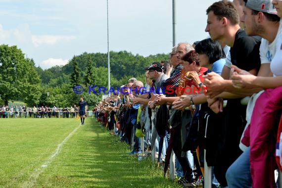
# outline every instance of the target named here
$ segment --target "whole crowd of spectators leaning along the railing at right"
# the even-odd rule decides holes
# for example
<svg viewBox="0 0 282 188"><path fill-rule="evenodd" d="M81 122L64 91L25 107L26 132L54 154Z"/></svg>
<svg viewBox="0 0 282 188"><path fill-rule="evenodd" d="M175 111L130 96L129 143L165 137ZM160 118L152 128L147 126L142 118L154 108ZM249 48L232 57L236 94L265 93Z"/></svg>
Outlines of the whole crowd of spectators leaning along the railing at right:
<svg viewBox="0 0 282 188"><path fill-rule="evenodd" d="M169 62L145 68L144 83L131 79L100 101L95 117L130 145L128 154L156 149L164 170L173 150L184 187L196 186L205 161L212 188L276 188L281 11L281 0L214 2L209 39L173 47Z"/></svg>

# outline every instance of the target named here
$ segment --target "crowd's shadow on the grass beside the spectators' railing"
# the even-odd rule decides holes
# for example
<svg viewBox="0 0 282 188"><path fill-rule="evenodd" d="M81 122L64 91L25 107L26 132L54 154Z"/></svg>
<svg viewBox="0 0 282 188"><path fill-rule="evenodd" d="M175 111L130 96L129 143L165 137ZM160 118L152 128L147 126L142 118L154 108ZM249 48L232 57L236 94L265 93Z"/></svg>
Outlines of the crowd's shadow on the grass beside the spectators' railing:
<svg viewBox="0 0 282 188"><path fill-rule="evenodd" d="M128 144L109 135L104 127L92 121L84 131L90 132L78 145L87 148L77 155L79 173L70 176L79 179L86 187L115 188L175 188L179 187L163 177L161 169L155 167L151 158L138 161L137 156L128 155Z"/></svg>

